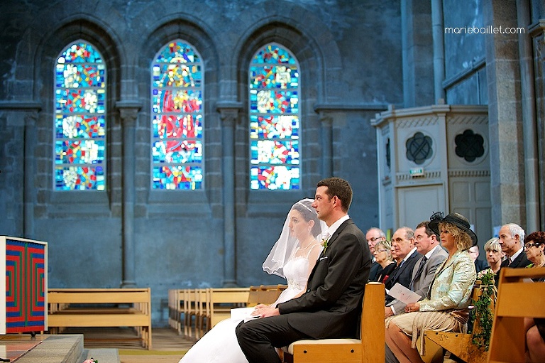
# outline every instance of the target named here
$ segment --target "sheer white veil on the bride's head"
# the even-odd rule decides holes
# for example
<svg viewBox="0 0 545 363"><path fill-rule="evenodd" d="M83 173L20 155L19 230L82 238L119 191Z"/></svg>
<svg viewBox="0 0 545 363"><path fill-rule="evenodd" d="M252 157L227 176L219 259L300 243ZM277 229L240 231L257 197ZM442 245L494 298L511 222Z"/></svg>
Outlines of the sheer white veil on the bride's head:
<svg viewBox="0 0 545 363"><path fill-rule="evenodd" d="M318 219L316 210L314 210L312 207L312 202L314 202L314 200L308 198L299 200L299 202L292 205L290 212L292 210L297 210L301 212L301 215L307 222L314 220L314 227L312 227L311 232L316 239L319 239L321 232L326 231L327 227L325 222ZM282 278L285 277L283 271L284 265L287 263L287 261L290 261L295 249L297 246L299 246L299 241L290 235L289 224L290 214L288 213L284 222L284 227L282 228L282 233L280 234L280 238L278 238L275 245L272 246L267 259L265 259L265 262L263 262L263 271L269 274L275 274Z"/></svg>

